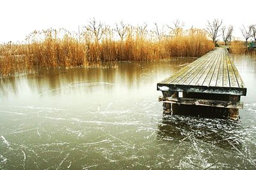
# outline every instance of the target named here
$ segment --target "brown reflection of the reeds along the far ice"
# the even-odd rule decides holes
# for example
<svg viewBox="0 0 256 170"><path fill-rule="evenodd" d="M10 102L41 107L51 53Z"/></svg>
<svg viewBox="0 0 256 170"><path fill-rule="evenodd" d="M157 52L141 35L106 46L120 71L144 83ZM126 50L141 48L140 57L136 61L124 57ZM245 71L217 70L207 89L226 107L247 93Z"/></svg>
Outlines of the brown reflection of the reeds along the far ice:
<svg viewBox="0 0 256 170"><path fill-rule="evenodd" d="M170 76L179 67L188 64L196 58L177 57L165 62L119 62L117 68L76 68L76 69L41 69L36 75L14 76L0 79L1 95L8 96L8 92L17 92L28 88L33 92L52 90L52 95L59 94L70 87L70 83L117 83L125 88L140 87L143 82L160 80ZM154 63L154 64L153 64ZM173 67L170 67L171 66ZM163 67L162 67L163 66ZM73 85L74 87L74 85ZM108 86L109 87L109 86ZM63 88L63 89L60 89ZM55 90L54 90L55 89ZM57 90L60 89L60 90ZM95 90L91 86L88 90ZM83 92L84 89L79 89Z"/></svg>

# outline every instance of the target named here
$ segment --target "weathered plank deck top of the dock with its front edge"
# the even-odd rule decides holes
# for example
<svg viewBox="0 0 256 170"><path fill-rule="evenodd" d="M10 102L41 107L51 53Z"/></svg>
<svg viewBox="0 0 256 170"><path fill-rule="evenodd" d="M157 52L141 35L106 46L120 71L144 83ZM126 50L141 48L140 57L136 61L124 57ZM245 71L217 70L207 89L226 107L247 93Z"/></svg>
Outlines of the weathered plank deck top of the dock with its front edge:
<svg viewBox="0 0 256 170"><path fill-rule="evenodd" d="M157 90L246 96L243 80L226 48L216 48L191 62L157 83Z"/></svg>

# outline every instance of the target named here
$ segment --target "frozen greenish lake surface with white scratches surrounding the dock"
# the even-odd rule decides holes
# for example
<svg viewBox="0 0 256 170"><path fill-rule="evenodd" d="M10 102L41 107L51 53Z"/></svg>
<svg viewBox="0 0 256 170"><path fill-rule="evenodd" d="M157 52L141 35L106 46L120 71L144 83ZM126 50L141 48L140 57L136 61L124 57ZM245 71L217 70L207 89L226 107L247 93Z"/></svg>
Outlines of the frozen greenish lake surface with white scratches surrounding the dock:
<svg viewBox="0 0 256 170"><path fill-rule="evenodd" d="M255 169L256 59L239 122L163 115L156 83L195 58L2 78L0 169Z"/></svg>

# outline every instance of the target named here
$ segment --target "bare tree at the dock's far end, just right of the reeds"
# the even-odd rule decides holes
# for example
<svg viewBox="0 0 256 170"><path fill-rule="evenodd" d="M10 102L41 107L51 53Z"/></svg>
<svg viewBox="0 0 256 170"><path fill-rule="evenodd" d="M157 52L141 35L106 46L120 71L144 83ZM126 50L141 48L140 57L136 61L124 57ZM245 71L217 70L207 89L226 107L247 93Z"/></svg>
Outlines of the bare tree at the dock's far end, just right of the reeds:
<svg viewBox="0 0 256 170"><path fill-rule="evenodd" d="M218 35L218 31L220 29L220 26L222 24L222 20L214 19L212 22L207 21L208 24L206 26L206 31L209 37L212 39L213 43L216 43L216 38L218 38L220 35Z"/></svg>

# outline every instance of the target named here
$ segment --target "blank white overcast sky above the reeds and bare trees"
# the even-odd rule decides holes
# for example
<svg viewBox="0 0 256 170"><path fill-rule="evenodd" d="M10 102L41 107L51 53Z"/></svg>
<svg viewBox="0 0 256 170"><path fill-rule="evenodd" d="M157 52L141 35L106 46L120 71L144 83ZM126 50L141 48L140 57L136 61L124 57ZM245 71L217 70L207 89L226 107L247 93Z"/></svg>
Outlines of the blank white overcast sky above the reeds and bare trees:
<svg viewBox="0 0 256 170"><path fill-rule="evenodd" d="M242 37L242 25L256 24L256 0L1 0L0 43L22 41L34 30L63 27L77 31L95 17L108 25L124 20L129 24L172 24L179 19L186 27L205 28L207 20L223 19Z"/></svg>

